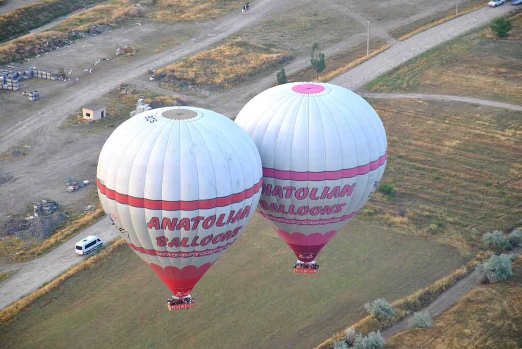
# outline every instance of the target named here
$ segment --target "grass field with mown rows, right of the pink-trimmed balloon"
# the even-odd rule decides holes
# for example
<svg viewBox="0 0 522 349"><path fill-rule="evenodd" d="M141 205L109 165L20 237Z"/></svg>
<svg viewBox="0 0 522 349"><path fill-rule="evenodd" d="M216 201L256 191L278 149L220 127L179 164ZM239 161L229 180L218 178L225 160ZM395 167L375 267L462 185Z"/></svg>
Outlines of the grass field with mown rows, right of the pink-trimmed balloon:
<svg viewBox="0 0 522 349"><path fill-rule="evenodd" d="M362 216L462 248L522 217L522 113L458 102L370 100L388 137L383 182ZM476 231L473 230L476 228Z"/></svg>

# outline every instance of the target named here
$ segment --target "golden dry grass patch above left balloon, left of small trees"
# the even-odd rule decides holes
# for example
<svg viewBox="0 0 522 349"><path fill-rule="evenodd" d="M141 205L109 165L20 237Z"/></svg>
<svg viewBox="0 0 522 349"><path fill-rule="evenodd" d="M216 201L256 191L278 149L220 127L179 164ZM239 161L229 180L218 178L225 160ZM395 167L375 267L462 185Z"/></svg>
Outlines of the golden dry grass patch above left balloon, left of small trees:
<svg viewBox="0 0 522 349"><path fill-rule="evenodd" d="M171 89L180 83L229 88L290 58L286 50L236 39L161 68L156 74L166 74L161 85Z"/></svg>

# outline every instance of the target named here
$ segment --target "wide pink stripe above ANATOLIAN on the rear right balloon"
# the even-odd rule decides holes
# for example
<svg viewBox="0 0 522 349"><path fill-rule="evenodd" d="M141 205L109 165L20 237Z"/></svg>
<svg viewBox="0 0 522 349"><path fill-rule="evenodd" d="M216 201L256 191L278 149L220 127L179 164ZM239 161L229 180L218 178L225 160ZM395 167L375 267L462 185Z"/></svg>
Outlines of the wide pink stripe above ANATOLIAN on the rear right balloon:
<svg viewBox="0 0 522 349"><path fill-rule="evenodd" d="M388 159L388 151L386 151L382 157L366 165L353 167L353 169L323 172L281 171L263 167L263 176L276 179L292 180L336 180L341 178L352 178L378 169L379 166L383 165L386 162L386 159Z"/></svg>

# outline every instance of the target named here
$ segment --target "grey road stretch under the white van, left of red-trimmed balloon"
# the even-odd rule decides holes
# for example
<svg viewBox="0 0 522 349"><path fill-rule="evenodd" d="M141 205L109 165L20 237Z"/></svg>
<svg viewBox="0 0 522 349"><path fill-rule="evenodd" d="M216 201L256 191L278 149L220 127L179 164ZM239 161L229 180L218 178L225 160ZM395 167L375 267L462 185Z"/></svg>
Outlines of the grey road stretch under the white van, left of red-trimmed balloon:
<svg viewBox="0 0 522 349"><path fill-rule="evenodd" d="M4 267L5 271L18 271L0 283L0 310L38 290L44 283L54 280L79 261L86 259L87 257L76 254L74 246L88 235L98 236L106 244L117 237L118 233L109 220L102 219L43 257Z"/></svg>

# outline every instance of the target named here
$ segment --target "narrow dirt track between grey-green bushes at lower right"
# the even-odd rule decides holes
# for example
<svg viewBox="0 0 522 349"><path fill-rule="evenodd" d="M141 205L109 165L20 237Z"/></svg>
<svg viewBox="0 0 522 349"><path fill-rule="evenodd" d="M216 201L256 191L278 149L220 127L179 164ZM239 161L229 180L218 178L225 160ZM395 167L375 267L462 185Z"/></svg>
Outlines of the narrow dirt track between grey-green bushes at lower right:
<svg viewBox="0 0 522 349"><path fill-rule="evenodd" d="M522 247L516 247L513 250L509 251L509 253L519 254L522 252ZM437 315L440 315L444 310L448 309L450 306L454 305L457 300L462 298L466 293L471 291L473 288L480 287L479 286L480 275L474 270L470 274L468 274L464 279L459 280L455 285L449 287L444 293L438 296L432 303L428 306L421 309L421 311L428 311L430 317L434 318ZM413 315L410 315L398 322L394 326L390 327L387 330L381 332L383 337L390 338L395 334L405 331L408 329L408 322L413 318Z"/></svg>

